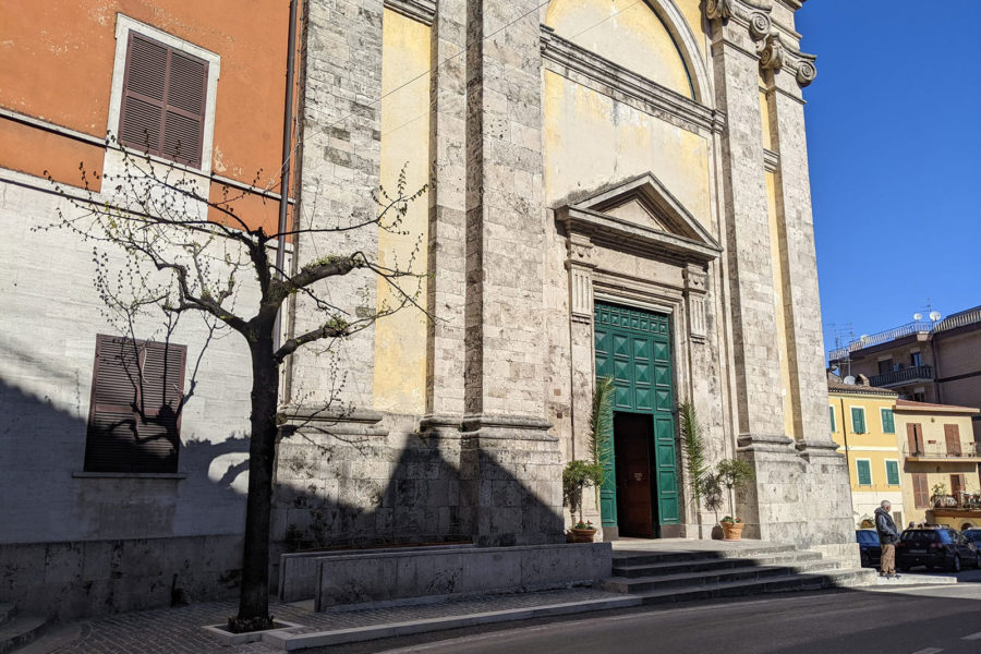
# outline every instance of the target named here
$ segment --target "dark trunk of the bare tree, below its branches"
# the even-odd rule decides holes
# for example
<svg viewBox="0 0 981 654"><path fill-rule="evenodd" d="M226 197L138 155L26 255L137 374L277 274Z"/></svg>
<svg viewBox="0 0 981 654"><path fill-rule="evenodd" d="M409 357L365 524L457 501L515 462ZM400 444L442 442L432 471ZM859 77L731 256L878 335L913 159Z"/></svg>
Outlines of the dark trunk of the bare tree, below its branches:
<svg viewBox="0 0 981 654"><path fill-rule="evenodd" d="M245 547L239 614L233 631L271 628L269 616L269 523L272 509L272 463L276 456L276 411L279 371L272 359L272 330L259 329L252 352L252 436L249 445L249 497L245 501Z"/></svg>

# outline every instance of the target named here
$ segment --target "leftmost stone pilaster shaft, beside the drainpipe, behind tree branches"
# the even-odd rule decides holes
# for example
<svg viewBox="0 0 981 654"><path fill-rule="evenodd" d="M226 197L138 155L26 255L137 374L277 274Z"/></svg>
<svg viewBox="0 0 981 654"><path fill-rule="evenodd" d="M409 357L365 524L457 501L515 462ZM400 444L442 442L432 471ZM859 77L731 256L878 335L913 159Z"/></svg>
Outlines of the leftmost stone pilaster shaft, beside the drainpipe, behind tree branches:
<svg viewBox="0 0 981 654"><path fill-rule="evenodd" d="M336 228L377 216L373 199L380 174L382 0L358 4L311 0L306 23L305 69L301 105L300 227ZM303 234L298 261L329 254L363 252L377 257L378 230ZM322 282L347 319L374 315L377 281L371 271ZM293 331L323 325L330 312L298 295ZM368 327L336 344L335 355L318 356L311 348L292 355L292 391L288 400L307 403L341 401L370 408L374 379L375 330Z"/></svg>

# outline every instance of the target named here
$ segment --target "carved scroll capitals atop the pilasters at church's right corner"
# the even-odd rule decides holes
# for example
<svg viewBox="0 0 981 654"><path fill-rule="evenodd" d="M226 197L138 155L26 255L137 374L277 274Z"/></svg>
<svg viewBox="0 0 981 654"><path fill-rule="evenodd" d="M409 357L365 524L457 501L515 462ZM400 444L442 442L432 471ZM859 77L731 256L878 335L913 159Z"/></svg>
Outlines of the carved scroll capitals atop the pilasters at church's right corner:
<svg viewBox="0 0 981 654"><path fill-rule="evenodd" d="M707 20L720 23L734 21L749 31L750 37L758 43L756 55L762 69L774 72L787 70L801 87L814 81L818 75L814 66L816 57L784 43L785 37L792 39L799 35L775 25L770 16L772 8L751 0L705 0L704 8Z"/></svg>

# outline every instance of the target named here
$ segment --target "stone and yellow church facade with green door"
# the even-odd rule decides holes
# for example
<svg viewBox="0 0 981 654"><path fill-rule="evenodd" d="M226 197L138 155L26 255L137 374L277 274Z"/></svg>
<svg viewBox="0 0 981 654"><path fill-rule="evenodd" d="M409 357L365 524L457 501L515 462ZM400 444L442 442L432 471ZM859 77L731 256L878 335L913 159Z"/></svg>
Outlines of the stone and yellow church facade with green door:
<svg viewBox="0 0 981 654"><path fill-rule="evenodd" d="M280 533L313 508L328 542L559 542L561 468L586 457L611 376L615 482L586 498L605 537L707 537L679 450L690 401L712 461L755 468L748 535L850 550L799 8L391 1L368 20L312 3L301 220L314 196L356 216L400 173L425 184L404 234L344 244L423 275L428 319L407 308L343 346L347 413L317 409L325 360L294 355ZM366 276L347 296L390 293ZM294 323L312 315L299 302ZM314 456L350 468L312 474Z"/></svg>

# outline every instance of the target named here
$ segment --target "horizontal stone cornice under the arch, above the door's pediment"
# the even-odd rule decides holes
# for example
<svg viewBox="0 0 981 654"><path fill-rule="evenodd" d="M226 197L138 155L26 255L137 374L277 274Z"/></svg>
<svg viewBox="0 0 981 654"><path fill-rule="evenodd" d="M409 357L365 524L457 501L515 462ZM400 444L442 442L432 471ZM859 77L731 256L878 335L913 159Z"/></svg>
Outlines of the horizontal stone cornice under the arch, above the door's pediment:
<svg viewBox="0 0 981 654"><path fill-rule="evenodd" d="M542 25L542 58L547 70L576 82L583 82L584 77L593 83L588 84L590 87L614 99L621 99L617 97L621 94L692 126L713 131L725 128L723 113L590 52L545 25Z"/></svg>

